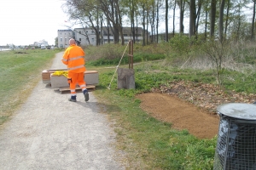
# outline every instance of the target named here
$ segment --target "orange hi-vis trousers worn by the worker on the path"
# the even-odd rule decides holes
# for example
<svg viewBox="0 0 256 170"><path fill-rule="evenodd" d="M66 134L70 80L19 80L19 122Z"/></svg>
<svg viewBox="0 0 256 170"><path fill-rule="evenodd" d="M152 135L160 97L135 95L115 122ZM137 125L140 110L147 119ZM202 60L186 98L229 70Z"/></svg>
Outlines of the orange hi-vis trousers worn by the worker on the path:
<svg viewBox="0 0 256 170"><path fill-rule="evenodd" d="M69 83L70 93L72 96L76 96L76 85L79 84L79 87L82 88L82 91L86 88L84 82L84 72L70 72L68 71L67 82Z"/></svg>

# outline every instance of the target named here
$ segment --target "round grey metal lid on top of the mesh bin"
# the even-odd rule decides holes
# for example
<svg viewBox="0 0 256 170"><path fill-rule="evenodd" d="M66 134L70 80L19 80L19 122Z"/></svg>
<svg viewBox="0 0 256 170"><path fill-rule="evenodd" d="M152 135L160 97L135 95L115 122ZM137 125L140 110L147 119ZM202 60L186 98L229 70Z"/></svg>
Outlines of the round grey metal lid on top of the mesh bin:
<svg viewBox="0 0 256 170"><path fill-rule="evenodd" d="M218 105L217 111L225 116L243 120L256 120L256 105L245 103L230 103Z"/></svg>

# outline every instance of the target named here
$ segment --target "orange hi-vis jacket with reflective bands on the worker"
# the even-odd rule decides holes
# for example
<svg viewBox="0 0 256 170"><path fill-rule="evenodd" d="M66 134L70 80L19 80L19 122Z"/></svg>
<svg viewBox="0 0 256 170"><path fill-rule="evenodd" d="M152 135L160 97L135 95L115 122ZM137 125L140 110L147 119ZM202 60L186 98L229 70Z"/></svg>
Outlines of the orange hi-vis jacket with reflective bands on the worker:
<svg viewBox="0 0 256 170"><path fill-rule="evenodd" d="M73 44L66 49L61 61L67 65L67 71L69 72L84 72L86 71L84 55L84 50Z"/></svg>

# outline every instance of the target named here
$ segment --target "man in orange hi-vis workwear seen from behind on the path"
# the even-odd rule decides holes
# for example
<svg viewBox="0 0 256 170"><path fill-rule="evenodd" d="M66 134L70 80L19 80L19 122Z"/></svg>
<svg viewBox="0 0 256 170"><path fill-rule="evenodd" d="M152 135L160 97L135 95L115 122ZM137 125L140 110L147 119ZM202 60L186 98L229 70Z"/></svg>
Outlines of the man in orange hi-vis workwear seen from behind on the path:
<svg viewBox="0 0 256 170"><path fill-rule="evenodd" d="M82 48L76 45L75 40L72 38L69 40L69 47L65 50L62 57L62 62L67 65L67 81L69 83L71 98L69 101L76 102L76 85L82 88L85 101L89 100L88 90L86 89L86 82L84 82L84 71L85 69L85 53Z"/></svg>

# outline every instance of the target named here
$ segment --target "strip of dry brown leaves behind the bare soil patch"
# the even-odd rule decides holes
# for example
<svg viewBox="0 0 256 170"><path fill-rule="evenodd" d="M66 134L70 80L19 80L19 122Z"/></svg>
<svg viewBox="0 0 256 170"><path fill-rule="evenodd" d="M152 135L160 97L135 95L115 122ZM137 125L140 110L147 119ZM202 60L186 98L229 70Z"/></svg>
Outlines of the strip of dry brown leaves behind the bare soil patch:
<svg viewBox="0 0 256 170"><path fill-rule="evenodd" d="M240 94L235 91L224 91L216 85L176 81L168 86L162 85L160 88L153 88L153 92L159 92L169 95L176 95L210 114L216 114L218 105L226 103L248 103L255 102L256 94Z"/></svg>

